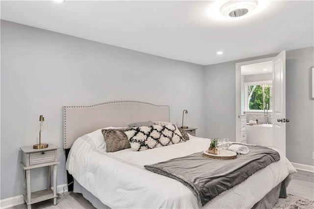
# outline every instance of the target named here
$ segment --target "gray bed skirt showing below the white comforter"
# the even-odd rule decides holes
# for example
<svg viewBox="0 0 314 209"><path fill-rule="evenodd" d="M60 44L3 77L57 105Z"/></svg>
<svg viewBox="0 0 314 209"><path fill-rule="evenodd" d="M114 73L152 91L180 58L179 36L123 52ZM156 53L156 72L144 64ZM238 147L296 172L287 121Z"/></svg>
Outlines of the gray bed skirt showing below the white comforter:
<svg viewBox="0 0 314 209"><path fill-rule="evenodd" d="M82 194L83 197L97 209L110 209L87 189L81 186L75 179L73 192ZM268 192L259 202L253 206L252 209L272 209L276 205L279 197L287 197L286 179L275 186L270 192Z"/></svg>

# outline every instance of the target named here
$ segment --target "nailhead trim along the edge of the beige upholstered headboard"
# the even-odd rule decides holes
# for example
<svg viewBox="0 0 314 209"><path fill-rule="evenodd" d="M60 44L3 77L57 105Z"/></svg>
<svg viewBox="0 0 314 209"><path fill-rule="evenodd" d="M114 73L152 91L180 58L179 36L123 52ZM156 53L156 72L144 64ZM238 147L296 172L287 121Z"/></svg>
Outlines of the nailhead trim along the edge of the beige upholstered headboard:
<svg viewBox="0 0 314 209"><path fill-rule="evenodd" d="M170 122L170 106L169 105L156 105L156 104L137 102L137 101L116 101L116 102L107 102L107 103L93 104L93 105L87 105L87 106L63 106L63 138L64 138L63 146L64 146L64 149L68 149L67 148L67 109L68 108L91 108L95 106L114 104L114 103L138 103L138 104L149 104L149 105L153 105L157 107L168 107L169 109L169 121L168 122Z"/></svg>

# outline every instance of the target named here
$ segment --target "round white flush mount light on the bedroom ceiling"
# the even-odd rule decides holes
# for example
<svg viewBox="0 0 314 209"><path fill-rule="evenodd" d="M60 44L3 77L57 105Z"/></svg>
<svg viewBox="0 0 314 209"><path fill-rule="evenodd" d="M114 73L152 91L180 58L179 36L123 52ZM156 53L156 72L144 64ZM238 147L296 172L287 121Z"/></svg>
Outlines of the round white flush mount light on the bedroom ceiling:
<svg viewBox="0 0 314 209"><path fill-rule="evenodd" d="M270 4L270 0L215 0L209 4L210 19L233 21L259 13Z"/></svg>

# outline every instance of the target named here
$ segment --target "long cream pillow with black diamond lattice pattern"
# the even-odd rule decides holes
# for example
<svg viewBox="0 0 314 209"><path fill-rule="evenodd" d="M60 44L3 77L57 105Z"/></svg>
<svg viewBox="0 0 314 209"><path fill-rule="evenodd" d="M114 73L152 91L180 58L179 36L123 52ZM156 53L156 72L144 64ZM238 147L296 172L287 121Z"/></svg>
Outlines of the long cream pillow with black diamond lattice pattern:
<svg viewBox="0 0 314 209"><path fill-rule="evenodd" d="M128 136L132 151L143 151L157 147L185 142L177 126L142 126L124 131Z"/></svg>

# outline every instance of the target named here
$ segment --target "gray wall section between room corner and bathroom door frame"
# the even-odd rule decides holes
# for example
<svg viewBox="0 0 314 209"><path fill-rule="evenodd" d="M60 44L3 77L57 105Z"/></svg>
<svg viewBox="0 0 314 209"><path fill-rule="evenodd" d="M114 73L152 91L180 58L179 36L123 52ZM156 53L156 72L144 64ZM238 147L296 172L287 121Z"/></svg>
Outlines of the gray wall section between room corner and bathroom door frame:
<svg viewBox="0 0 314 209"><path fill-rule="evenodd" d="M235 141L235 62L205 67L205 137Z"/></svg>

